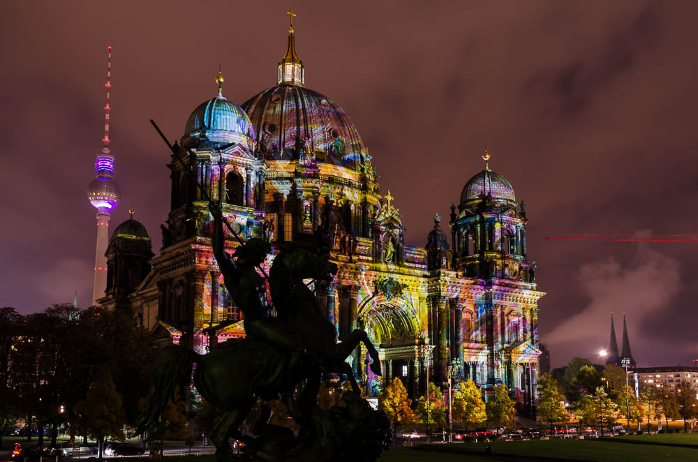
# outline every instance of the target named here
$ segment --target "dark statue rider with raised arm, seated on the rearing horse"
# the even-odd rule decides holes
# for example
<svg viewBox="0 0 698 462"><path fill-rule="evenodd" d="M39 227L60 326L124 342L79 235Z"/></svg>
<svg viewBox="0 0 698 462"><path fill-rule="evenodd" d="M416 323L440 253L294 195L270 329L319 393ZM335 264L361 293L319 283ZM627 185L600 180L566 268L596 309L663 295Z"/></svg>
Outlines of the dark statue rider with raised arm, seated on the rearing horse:
<svg viewBox="0 0 698 462"><path fill-rule="evenodd" d="M305 349L281 322L271 317L271 306L267 300L267 283L258 274L256 267L264 262L271 247L264 239L253 237L235 249L233 257L225 251L223 237L223 213L221 205L209 204L214 218L213 239L211 244L218 268L223 274L225 288L235 301L235 306L242 311L243 325L247 338L272 345L289 356L283 385L283 398L286 405L295 405L292 401L299 365Z"/></svg>

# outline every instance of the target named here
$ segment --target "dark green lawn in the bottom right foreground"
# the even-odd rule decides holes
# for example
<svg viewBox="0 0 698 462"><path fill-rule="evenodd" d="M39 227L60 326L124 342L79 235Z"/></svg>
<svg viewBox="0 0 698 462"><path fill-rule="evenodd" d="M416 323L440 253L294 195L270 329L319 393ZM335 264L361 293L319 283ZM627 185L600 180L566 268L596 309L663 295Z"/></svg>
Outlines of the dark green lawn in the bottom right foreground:
<svg viewBox="0 0 698 462"><path fill-rule="evenodd" d="M668 437L669 435L667 435ZM673 436L673 435L671 435ZM433 445L433 449L448 451L452 454L463 452L483 454L487 443L466 443L450 445ZM512 454L519 456L541 456L549 458L575 459L582 461L666 461L676 459L692 461L698 459L698 449L628 445L622 442L605 442L593 440L533 440L533 441L498 441L491 443L492 454ZM455 458L453 460L456 460Z"/></svg>

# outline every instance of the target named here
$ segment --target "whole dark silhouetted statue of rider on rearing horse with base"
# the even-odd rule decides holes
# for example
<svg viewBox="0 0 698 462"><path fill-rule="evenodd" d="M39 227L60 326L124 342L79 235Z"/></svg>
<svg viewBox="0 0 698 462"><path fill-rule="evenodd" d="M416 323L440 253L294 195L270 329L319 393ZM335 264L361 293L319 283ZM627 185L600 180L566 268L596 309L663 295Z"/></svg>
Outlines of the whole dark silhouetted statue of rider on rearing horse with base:
<svg viewBox="0 0 698 462"><path fill-rule="evenodd" d="M385 414L372 410L359 397L360 390L345 359L363 342L373 359L371 370L380 374L378 352L365 331L352 331L337 343L334 325L325 318L320 303L304 279L332 281L336 264L286 243L272 264L269 288L278 313L270 316L266 281L258 267L266 258L269 244L248 239L233 257L224 250L222 214L211 204L214 217L212 244L235 305L244 314L246 338L221 343L206 355L170 345L156 357L148 405L139 419L139 433L158 421L175 389L191 382L211 405L221 410L209 437L216 445L219 462L246 461L375 461L390 440ZM234 259L235 257L235 259ZM323 373L346 375L352 392L342 396L342 406L331 410L318 407L318 390ZM296 400L294 390L304 382ZM239 430L258 398L279 398L290 417L300 425L297 437L288 428L268 423L270 412L262 406L253 434ZM232 454L229 438L246 443L246 454Z"/></svg>

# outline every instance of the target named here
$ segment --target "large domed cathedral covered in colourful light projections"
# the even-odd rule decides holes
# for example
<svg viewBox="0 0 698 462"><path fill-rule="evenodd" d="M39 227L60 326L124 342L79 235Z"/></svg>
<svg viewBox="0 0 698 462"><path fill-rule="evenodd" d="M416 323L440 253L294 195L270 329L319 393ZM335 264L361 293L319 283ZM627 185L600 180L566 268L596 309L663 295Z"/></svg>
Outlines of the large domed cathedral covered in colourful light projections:
<svg viewBox="0 0 698 462"><path fill-rule="evenodd" d="M274 87L237 105L218 74L217 93L191 112L171 147L160 254L133 217L121 223L105 253L99 304L131 311L134 322L202 353L244 336L211 251L208 198L220 200L228 251L267 239L267 274L274 246L286 241L338 265L334 281L313 290L340 341L360 328L378 348L382 377L362 348L350 358L367 396L396 377L411 398L427 380L445 387L470 378L486 395L506 385L530 413L544 292L527 254L523 201L485 151L484 169L465 182L448 222L437 214L426 245L408 246L399 202L381 193L348 114L304 81L292 27Z"/></svg>

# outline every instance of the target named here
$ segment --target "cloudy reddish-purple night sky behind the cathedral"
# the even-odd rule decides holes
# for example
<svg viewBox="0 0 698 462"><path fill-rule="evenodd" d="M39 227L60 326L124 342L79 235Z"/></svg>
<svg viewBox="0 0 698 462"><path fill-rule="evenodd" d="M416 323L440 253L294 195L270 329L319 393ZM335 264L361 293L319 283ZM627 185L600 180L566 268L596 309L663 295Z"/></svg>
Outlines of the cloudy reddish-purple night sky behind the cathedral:
<svg viewBox="0 0 698 462"><path fill-rule="evenodd" d="M108 9L107 9L108 5ZM483 167L526 201L540 337L554 366L608 343L628 313L639 366L698 357L698 244L546 241L558 232L698 232L695 1L295 1L306 86L350 115L424 246ZM276 84L287 3L2 1L0 306L91 301L106 47L112 154L128 218L160 247L170 140L224 94ZM445 221L443 222L446 225Z"/></svg>

